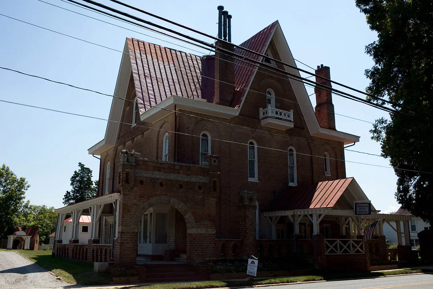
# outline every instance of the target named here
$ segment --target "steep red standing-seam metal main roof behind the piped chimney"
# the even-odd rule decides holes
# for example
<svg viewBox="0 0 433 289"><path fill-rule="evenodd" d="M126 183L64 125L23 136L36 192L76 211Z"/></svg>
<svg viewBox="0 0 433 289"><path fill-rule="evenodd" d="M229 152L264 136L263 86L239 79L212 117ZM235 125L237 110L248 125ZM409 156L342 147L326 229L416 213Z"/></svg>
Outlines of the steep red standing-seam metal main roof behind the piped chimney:
<svg viewBox="0 0 433 289"><path fill-rule="evenodd" d="M272 33L278 21L275 21L259 33L246 40L240 46L265 53ZM139 101L140 113L164 101L171 95L191 99L205 98L212 102L214 96L214 81L205 82L210 88L201 87L202 57L181 52L164 46L148 43L142 40L127 38L132 76ZM260 60L260 56L243 49L236 48L240 56ZM213 62L204 62L207 70L214 69ZM235 60L235 94L232 107L238 108L246 94L257 67L240 59ZM213 72L208 77L213 78ZM207 95L202 95L202 91Z"/></svg>

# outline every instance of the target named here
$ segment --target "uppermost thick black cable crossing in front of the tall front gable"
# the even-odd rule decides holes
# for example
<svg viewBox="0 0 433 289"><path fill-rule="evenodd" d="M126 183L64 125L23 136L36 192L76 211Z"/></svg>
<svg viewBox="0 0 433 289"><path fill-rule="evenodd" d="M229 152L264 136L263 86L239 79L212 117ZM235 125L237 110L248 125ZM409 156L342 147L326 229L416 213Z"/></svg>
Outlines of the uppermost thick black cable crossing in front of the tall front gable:
<svg viewBox="0 0 433 289"><path fill-rule="evenodd" d="M75 2L75 1L73 1L73 0L68 0L68 1L70 1L70 2ZM101 8L107 9L107 10L111 10L111 11L113 11L113 8L108 7L108 6L106 6L106 5L103 5L103 4L100 4L100 3L98 3L98 2L92 1L92 0L82 0L82 1L87 2L87 3L90 3L90 4L93 4L93 5L95 5L95 6L99 6L99 7L101 7ZM182 24L180 24L180 23L176 23L176 22L174 22L174 21L172 21L172 20L169 20L169 19L167 19L167 18L164 18L164 17L162 17L162 16L158 16L158 15L153 14L153 13L150 13L150 12L148 12L148 11L145 11L145 10L139 9L139 8L137 8L137 7L134 7L134 6L128 5L128 4L123 3L123 2L121 2L121 1L119 1L119 0L110 0L110 1L111 1L111 2L114 2L114 3L117 3L117 4L120 4L120 5L124 6L124 7L128 7L128 8L130 8L130 9L132 9L132 10L136 10L136 11L139 11L139 12L141 12L141 13L145 13L145 14L147 14L147 15L149 15L149 16L152 16L152 17L154 17L154 18L157 18L157 19L159 19L159 20L163 20L163 21L165 21L165 22L168 22L168 23L174 24L174 25L179 26L179 27L181 27L181 28L184 28L184 29L190 30L190 31L192 31L192 32L198 33L198 34L200 34L200 35L207 36L208 38L211 38L211 39L214 39L214 40L217 40L217 41L222 41L222 42L229 43L229 42L227 42L227 41L225 41L225 40L223 40L223 39L219 39L219 38L214 37L214 36L212 36L212 35L210 35L210 34L207 34L207 33L201 32L201 31L199 31L199 30L195 30L195 29L193 29L193 28L191 28L191 27L188 27L188 26L182 25ZM115 11L113 11L113 12L115 12ZM121 12L121 11L120 11L120 12ZM116 13L118 13L118 12L116 12ZM125 12L121 12L120 14L121 14L121 15L124 15L124 16L128 15L127 17L129 17L129 18L135 17L135 16L132 16L132 15L130 15L130 14L128 14L128 13L125 13ZM134 19L134 18L132 18L132 19ZM146 20L144 20L144 21L146 21ZM152 22L150 22L150 23L152 23ZM149 24L150 24L150 23L149 23ZM153 24L153 23L152 23L152 24ZM150 25L152 25L152 24L150 24ZM154 25L156 25L156 24L154 24ZM152 25L152 26L154 26L154 25ZM167 29L167 28L166 28L166 29ZM167 30L167 31L168 31L168 30ZM229 44L230 44L230 45L233 45L234 47L242 48L242 49L244 49L244 50L246 50L246 51L248 51L248 52L250 52L250 53L254 53L255 55L258 55L258 56L260 56L260 57L268 57L268 56L265 56L265 55L262 54L262 53L258 53L258 52L256 52L256 51L254 51L254 50L247 49L247 48L245 48L245 47L242 47L242 46L239 46L239 45L236 45L236 44L233 44L233 43L229 43ZM277 63L280 63L280 64L282 64L282 65L284 65L284 66L288 66L288 67L290 67L290 68L297 69L298 71L302 71L302 72L304 72L304 73L310 74L310 75L312 75L312 76L319 77L320 79L324 79L324 80L329 81L329 82L331 82L331 83L334 83L334 84L336 84L336 85L343 86L343 87L346 88L346 89L351 89L351 90L353 90L353 91L355 91L355 92L362 93L362 94L364 94L364 95L367 95L367 96L370 96L370 97L372 97L372 98L374 98L374 99L378 99L378 100L380 100L380 101L383 101L383 102L389 103L389 104L391 104L391 105L395 105L395 106L398 106L398 107L401 107L401 108L405 108L405 107L403 107L402 105L399 105L399 104L397 104L397 103L390 102L390 101L388 101L388 100L386 100L386 99L381 99L381 98L379 98L379 97L377 97L377 96L375 96L375 95L368 94L367 92L364 92L364 91L362 91L362 90L355 89L355 88L352 88L352 87L350 87L350 86L348 86L348 85L344 85L344 84L342 84L342 83L339 83L339 82L333 81L333 80L331 80L331 79L327 79L326 77L316 75L315 73L309 72L309 71L304 70L304 69L300 69L300 68L298 68L297 66L293 66L293 65L288 64L288 63L286 63L286 62L283 62L283 61L281 61L281 60L274 59L274 58L271 58L271 57L268 57L268 58L271 59L271 60L273 60L273 61L275 61L275 62L277 62ZM305 64L304 64L304 65L305 65ZM310 68L311 68L311 67L310 67ZM312 68L312 69L313 69L313 68ZM410 108L406 108L406 109L410 110Z"/></svg>

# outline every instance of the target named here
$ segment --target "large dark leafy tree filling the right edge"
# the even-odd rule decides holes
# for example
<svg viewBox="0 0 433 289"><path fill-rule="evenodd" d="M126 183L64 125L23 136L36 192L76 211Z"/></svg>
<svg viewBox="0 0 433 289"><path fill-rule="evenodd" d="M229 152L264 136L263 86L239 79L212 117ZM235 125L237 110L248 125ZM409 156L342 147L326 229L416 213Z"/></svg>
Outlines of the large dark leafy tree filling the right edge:
<svg viewBox="0 0 433 289"><path fill-rule="evenodd" d="M393 114L377 119L372 139L380 142L397 175L395 196L403 208L433 223L433 5L431 0L356 0L378 40L365 46L375 65L365 70L366 91L389 100ZM385 104L377 98L371 102ZM399 106L400 105L400 106Z"/></svg>

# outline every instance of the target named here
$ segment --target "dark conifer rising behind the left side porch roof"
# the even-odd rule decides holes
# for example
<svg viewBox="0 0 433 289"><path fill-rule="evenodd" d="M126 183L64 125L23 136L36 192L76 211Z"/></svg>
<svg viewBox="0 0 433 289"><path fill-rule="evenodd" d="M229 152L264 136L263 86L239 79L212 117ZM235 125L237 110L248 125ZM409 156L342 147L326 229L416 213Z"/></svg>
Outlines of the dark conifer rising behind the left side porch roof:
<svg viewBox="0 0 433 289"><path fill-rule="evenodd" d="M78 171L74 171L71 177L72 190L67 190L63 197L63 204L66 206L90 200L98 194L97 187L95 188L97 183L92 181L92 170L82 163L78 163L78 167Z"/></svg>

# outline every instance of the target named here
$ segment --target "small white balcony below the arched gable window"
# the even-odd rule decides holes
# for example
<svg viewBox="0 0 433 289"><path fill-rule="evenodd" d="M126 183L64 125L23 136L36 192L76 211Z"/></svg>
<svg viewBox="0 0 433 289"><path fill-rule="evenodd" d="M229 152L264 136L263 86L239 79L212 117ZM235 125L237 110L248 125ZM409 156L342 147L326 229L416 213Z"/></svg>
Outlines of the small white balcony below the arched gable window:
<svg viewBox="0 0 433 289"><path fill-rule="evenodd" d="M267 108L260 108L260 121L263 126L285 131L293 128L293 109L285 111L268 105Z"/></svg>

